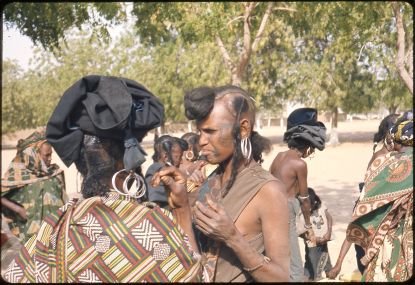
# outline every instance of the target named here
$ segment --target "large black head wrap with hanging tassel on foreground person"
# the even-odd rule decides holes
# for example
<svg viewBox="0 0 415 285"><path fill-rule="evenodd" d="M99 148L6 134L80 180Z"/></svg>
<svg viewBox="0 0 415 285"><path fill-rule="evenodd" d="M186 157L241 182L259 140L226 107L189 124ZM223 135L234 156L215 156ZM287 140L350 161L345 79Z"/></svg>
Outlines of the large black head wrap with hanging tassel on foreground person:
<svg viewBox="0 0 415 285"><path fill-rule="evenodd" d="M130 171L147 155L138 140L163 120L162 103L142 85L89 75L62 95L46 126L46 139L68 167L78 158L85 133L124 140L124 166Z"/></svg>

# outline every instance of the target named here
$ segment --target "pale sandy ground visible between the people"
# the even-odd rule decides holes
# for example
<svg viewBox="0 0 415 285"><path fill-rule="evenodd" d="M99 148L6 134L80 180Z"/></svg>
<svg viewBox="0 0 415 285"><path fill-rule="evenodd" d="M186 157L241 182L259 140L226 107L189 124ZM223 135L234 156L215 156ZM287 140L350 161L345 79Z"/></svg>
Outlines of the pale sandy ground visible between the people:
<svg viewBox="0 0 415 285"><path fill-rule="evenodd" d="M353 122L339 122L338 132L340 146L327 146L323 151L316 150L312 160L305 159L308 166L308 186L313 188L328 207L333 216L333 230L337 239L330 241L329 253L334 266L339 256L340 248L346 237L346 228L350 219L355 200L359 196L358 184L363 182L367 163L372 156L373 134L377 132L380 120L353 120ZM327 137L330 138L331 128L327 124ZM16 154L15 146L19 138L26 138L33 130L25 130L13 135L2 136L1 174ZM280 151L287 150L282 137L285 127L264 127L264 136L268 137L274 146L271 154L265 157L263 167L268 170L275 156ZM175 133L180 137L183 133ZM154 136L148 134L142 142L142 147L148 153L147 161L143 164L143 172L151 165ZM328 141L327 139L327 141ZM64 171L66 187L69 197L80 197L76 192L76 168L66 167L56 153L53 153L52 162L58 164ZM78 184L80 182L78 181ZM78 186L78 189L80 187ZM300 242L304 261L304 245ZM340 275L357 272L355 250L352 246L348 251ZM325 275L323 274L325 277Z"/></svg>

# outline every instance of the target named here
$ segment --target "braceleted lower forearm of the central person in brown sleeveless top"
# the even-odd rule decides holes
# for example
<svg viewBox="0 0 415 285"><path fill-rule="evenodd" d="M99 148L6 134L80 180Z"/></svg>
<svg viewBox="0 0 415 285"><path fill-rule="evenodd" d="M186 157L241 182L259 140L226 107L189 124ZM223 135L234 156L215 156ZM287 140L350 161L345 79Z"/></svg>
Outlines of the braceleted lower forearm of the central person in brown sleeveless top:
<svg viewBox="0 0 415 285"><path fill-rule="evenodd" d="M248 271L256 282L289 281L289 272L279 266L272 256L268 256L271 259L269 263L265 260L263 261L261 253L253 249L239 231L235 235L235 238L226 241L226 245L232 249L236 257L242 263L242 266L245 268L255 268L263 263L258 269Z"/></svg>

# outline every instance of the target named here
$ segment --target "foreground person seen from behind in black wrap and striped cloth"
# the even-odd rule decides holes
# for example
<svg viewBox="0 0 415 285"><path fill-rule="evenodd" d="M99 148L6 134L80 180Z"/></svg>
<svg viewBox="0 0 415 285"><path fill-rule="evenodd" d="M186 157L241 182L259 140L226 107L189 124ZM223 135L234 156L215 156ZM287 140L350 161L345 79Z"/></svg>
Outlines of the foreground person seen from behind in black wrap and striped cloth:
<svg viewBox="0 0 415 285"><path fill-rule="evenodd" d="M203 280L186 191L166 189L171 212L137 200L145 190L139 142L163 118L161 102L129 79L86 76L64 93L46 134L64 163L74 162L81 173L84 198L44 219L10 264L6 281ZM170 175L174 170L164 183Z"/></svg>

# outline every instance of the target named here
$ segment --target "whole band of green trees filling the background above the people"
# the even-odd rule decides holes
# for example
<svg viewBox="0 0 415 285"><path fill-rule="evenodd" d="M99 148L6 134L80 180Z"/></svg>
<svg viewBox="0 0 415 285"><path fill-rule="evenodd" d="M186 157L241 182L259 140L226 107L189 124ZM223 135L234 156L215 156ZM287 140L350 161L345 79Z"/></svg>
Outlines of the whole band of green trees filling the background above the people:
<svg viewBox="0 0 415 285"><path fill-rule="evenodd" d="M111 39L109 27L128 18L134 27ZM289 101L331 112L332 127L339 109L396 112L413 102L412 20L405 2L10 3L6 27L40 47L33 70L3 61L2 131L46 124L88 74L140 82L177 122L186 91L224 84L246 89L262 112Z"/></svg>

